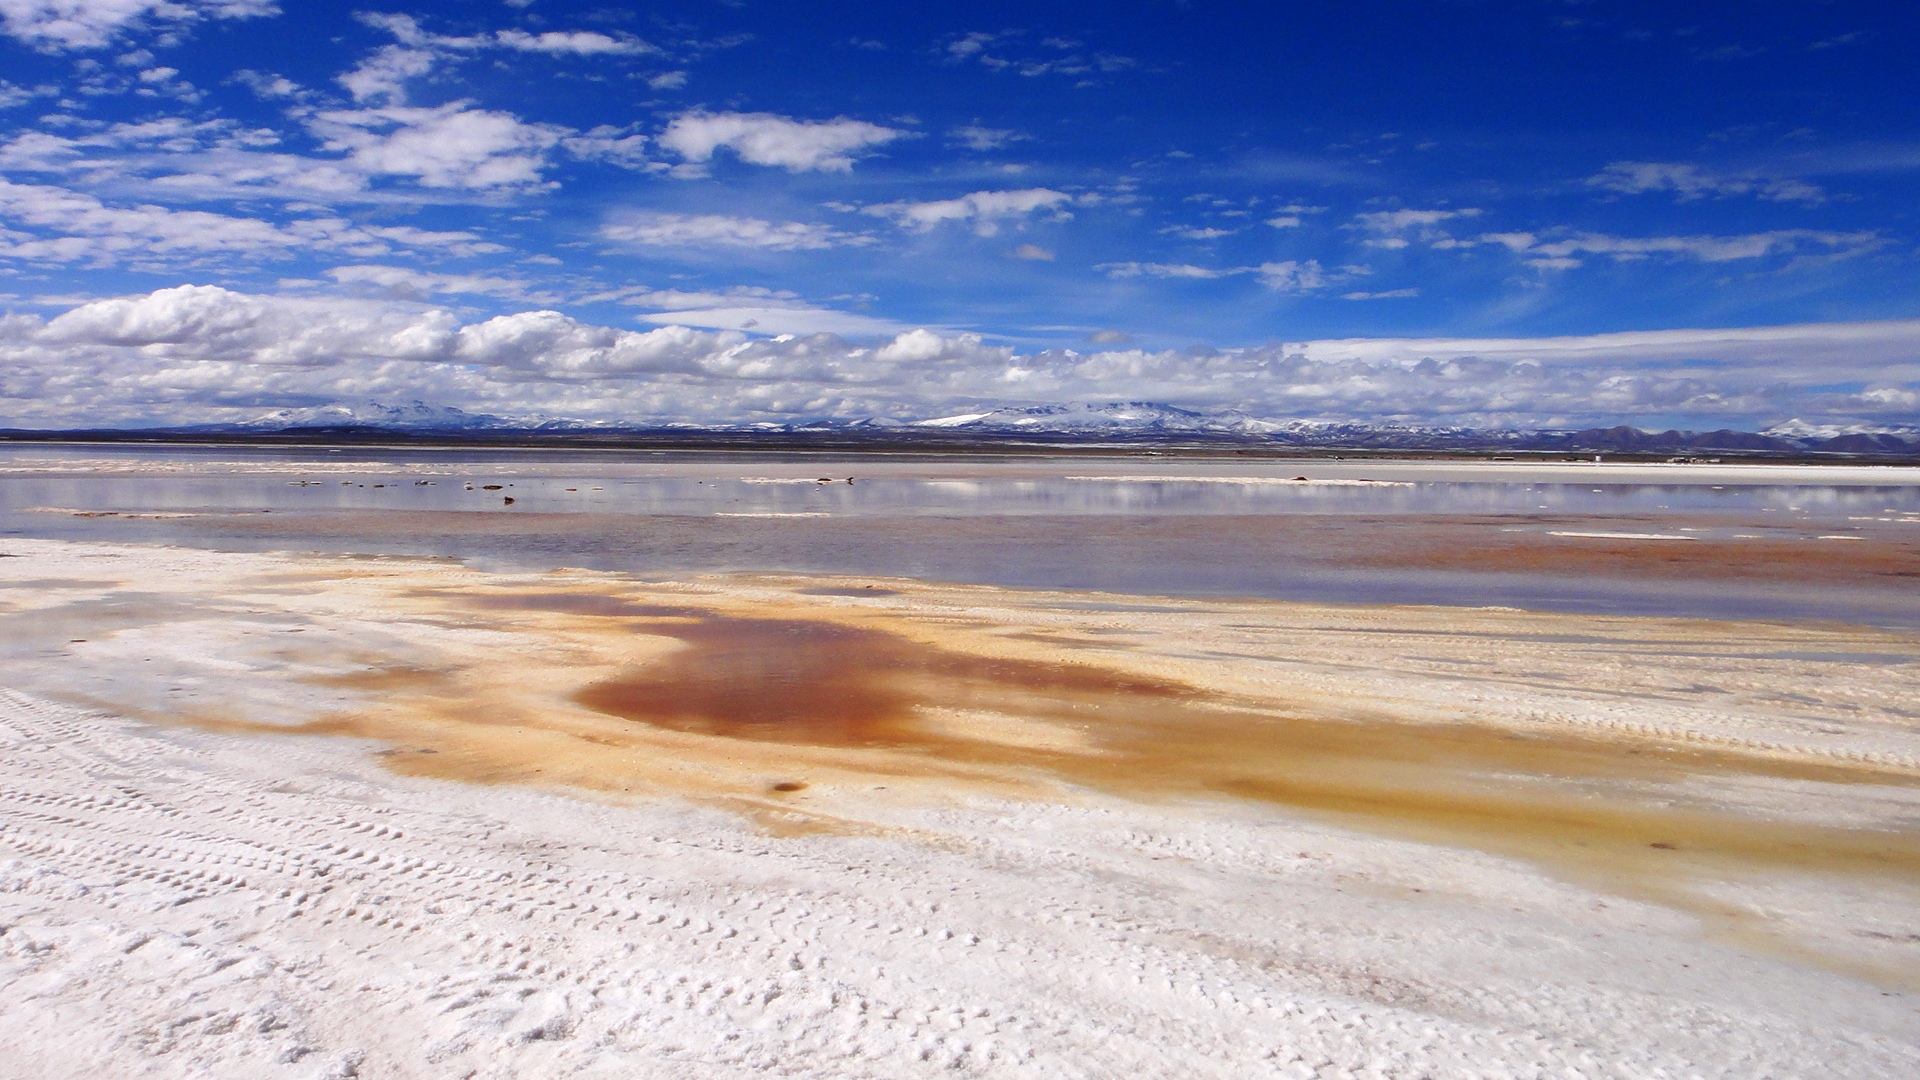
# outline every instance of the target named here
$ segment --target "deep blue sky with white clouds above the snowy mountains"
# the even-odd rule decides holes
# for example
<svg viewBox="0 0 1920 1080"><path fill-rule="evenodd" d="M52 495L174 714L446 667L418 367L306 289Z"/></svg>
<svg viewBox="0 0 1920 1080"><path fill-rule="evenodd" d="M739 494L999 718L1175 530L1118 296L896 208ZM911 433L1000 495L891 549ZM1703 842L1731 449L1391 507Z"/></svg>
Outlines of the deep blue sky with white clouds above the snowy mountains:
<svg viewBox="0 0 1920 1080"><path fill-rule="evenodd" d="M0 425L1920 425L1920 6L0 0Z"/></svg>

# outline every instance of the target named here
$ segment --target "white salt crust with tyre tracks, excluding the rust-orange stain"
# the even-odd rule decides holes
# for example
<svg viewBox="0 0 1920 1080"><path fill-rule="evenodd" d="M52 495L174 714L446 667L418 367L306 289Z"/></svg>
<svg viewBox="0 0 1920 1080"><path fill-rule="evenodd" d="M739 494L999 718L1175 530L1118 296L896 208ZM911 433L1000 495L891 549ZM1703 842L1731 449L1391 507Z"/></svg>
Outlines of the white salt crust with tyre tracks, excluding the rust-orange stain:
<svg viewBox="0 0 1920 1080"><path fill-rule="evenodd" d="M520 650L528 680L541 657L511 630L382 607L372 586L328 580L344 559L8 550L6 1076L1920 1074L1916 995L1897 984L1745 947L1697 911L1532 863L1275 805L843 784L822 796L824 815L852 807L856 822L781 830L768 826L780 815L691 788L461 782L396 769L417 751L392 744L223 728L211 721L234 709L288 723L338 707L323 696L380 709L378 694L294 678L365 667L369 651L426 663L434 648ZM482 577L369 565L409 586ZM1110 621L1144 634L1160 619L1208 644L1223 630L1194 609ZM1302 626L1338 617L1294 611ZM1421 640L1417 619L1402 621L1405 640ZM1306 630L1292 642L1311 644ZM1421 640L1411 659L1440 663L1446 648ZM1311 678L1359 667L1298 663L1319 665ZM1375 675L1388 682L1367 686L1386 698L1419 684ZM1582 707L1571 690L1501 698L1523 682L1453 678L1440 698L1473 696L1515 724ZM1878 705L1864 686L1836 694L1847 707L1809 696L1772 713L1678 707L1659 723L1788 749L1826 738L1834 761L1912 761L1910 724L1841 730L1832 717ZM1599 726L1634 723L1620 694L1594 701ZM1795 728L1795 715L1834 730ZM1893 799L1876 821L1912 805L1860 798ZM1870 892L1822 876L1722 888L1730 907L1799 911L1809 926L1843 909L1851 930L1836 934L1870 930L1884 940L1862 947L1907 957L1920 944L1907 894Z"/></svg>

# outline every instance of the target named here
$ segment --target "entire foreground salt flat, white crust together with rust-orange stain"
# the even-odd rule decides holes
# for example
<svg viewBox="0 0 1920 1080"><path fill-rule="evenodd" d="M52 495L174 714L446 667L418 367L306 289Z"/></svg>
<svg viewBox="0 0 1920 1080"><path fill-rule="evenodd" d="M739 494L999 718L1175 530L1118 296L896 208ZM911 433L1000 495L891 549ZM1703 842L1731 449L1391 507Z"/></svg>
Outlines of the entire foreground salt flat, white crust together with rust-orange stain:
<svg viewBox="0 0 1920 1080"><path fill-rule="evenodd" d="M4 548L13 1074L1920 1067L1912 632Z"/></svg>

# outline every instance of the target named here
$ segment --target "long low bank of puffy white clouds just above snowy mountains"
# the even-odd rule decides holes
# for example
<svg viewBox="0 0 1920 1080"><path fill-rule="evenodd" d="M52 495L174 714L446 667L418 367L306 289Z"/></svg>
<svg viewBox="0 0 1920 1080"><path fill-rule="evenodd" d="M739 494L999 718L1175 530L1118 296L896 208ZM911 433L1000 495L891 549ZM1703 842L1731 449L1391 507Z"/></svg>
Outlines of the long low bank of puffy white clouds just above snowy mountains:
<svg viewBox="0 0 1920 1080"><path fill-rule="evenodd" d="M808 331L628 331L559 311L467 323L397 300L179 286L0 323L0 421L188 423L369 396L630 423L912 419L1071 400L1480 427L1920 419L1920 321L1202 352L1117 348L1119 334L1094 344L1116 348L1021 354L931 329L877 346Z"/></svg>

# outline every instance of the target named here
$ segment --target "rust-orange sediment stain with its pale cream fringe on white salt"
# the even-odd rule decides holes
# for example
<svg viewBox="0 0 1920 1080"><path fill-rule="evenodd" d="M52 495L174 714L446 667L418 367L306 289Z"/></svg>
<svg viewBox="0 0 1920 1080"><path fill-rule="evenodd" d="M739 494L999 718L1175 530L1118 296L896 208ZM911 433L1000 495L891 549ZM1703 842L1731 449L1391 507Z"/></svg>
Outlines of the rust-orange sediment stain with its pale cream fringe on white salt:
<svg viewBox="0 0 1920 1080"><path fill-rule="evenodd" d="M1244 665L1206 650L1194 655L1215 659L1167 659L1185 655L1165 644L1169 632L1181 634L1177 613L1144 617L1152 632L1075 642L1066 636L1073 619L1006 625L998 609L929 607L908 584L874 590L874 603L864 603L860 584L555 580L564 584L380 578L376 605L495 634L499 644L444 653L457 661L440 665L396 659L309 676L359 692L369 705L294 730L382 740L384 763L405 774L716 799L781 834L872 828L860 807L874 798L1071 799L1094 790L1146 801L1252 799L1532 859L1609 892L1697 911L1747 938L1766 936L1764 919L1724 909L1697 882L1818 872L1920 890L1920 836L1910 828L1768 817L1751 801L1740 809L1713 796L1724 784L1862 792L1920 784L1897 761L1457 723L1471 709L1434 723L1432 711L1390 696L1331 694L1325 682L1300 694L1283 692L1286 680L1215 684L1194 673ZM1210 632L1267 630L1215 623ZM1613 628L1624 630L1624 623ZM1286 632L1321 634L1311 623ZM1110 646L1062 648L1098 640ZM1336 667L1325 655L1331 640L1300 638L1300 648ZM1620 646L1661 648L1651 638ZM1284 650L1275 644L1263 659ZM1352 684L1365 684L1365 675ZM1805 951L1780 947L1795 949ZM1847 969L1832 957L1818 963Z"/></svg>

